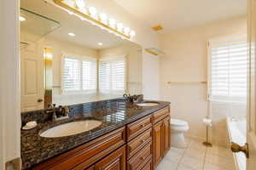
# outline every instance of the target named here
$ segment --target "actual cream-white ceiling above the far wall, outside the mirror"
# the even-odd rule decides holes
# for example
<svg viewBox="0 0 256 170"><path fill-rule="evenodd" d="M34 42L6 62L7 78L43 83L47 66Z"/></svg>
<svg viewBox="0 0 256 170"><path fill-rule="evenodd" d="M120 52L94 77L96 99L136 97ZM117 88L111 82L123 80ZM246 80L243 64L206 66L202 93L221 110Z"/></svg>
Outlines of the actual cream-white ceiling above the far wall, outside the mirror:
<svg viewBox="0 0 256 170"><path fill-rule="evenodd" d="M247 13L247 0L113 0L152 27L164 32L227 20Z"/></svg>

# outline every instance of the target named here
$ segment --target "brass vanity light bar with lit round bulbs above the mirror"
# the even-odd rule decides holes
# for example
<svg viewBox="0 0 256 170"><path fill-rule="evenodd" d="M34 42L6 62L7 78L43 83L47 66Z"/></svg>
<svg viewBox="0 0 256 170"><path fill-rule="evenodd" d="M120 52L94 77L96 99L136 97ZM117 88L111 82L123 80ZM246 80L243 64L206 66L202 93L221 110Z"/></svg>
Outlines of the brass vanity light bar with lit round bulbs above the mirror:
<svg viewBox="0 0 256 170"><path fill-rule="evenodd" d="M129 27L123 27L113 19L108 19L107 14L98 14L96 8L85 8L84 0L53 0L54 3L66 10L69 14L77 15L81 20L88 20L92 25L99 26L103 30L123 39L130 39L136 35Z"/></svg>

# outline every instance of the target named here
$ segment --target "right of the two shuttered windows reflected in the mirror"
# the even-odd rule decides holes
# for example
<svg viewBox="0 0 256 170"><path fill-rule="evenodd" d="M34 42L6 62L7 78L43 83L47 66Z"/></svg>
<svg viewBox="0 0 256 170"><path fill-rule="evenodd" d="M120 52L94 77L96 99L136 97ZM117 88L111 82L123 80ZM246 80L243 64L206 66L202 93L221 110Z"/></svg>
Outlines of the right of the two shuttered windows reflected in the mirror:
<svg viewBox="0 0 256 170"><path fill-rule="evenodd" d="M124 94L126 86L125 57L99 61L99 90L105 94Z"/></svg>

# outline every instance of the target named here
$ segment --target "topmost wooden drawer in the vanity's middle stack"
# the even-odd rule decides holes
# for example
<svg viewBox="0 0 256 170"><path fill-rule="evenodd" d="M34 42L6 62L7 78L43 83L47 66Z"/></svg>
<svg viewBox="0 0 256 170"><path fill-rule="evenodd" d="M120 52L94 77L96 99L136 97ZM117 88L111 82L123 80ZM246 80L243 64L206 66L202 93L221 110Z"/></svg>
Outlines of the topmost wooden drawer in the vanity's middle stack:
<svg viewBox="0 0 256 170"><path fill-rule="evenodd" d="M151 115L145 116L136 122L130 123L127 125L127 140L131 141L131 139L136 138L137 135L143 133L149 127L152 127Z"/></svg>

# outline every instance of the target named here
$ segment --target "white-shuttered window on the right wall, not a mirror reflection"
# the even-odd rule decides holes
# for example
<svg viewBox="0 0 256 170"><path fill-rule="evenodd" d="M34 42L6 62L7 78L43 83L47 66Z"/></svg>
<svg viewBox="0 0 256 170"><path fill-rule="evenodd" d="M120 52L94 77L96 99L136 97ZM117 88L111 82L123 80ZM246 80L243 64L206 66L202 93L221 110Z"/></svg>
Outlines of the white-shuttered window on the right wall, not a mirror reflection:
<svg viewBox="0 0 256 170"><path fill-rule="evenodd" d="M220 101L246 101L246 37L209 42L209 94Z"/></svg>

